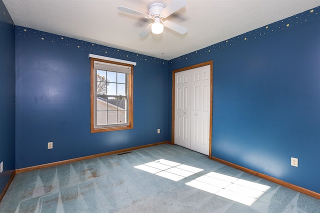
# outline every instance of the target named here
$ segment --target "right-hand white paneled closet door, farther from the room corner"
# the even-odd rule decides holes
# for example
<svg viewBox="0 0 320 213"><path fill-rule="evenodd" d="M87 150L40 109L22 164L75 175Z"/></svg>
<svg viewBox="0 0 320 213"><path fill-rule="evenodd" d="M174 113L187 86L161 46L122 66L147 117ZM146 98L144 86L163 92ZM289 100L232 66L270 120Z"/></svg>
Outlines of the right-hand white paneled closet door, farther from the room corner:
<svg viewBox="0 0 320 213"><path fill-rule="evenodd" d="M210 66L192 69L190 149L209 154Z"/></svg>

